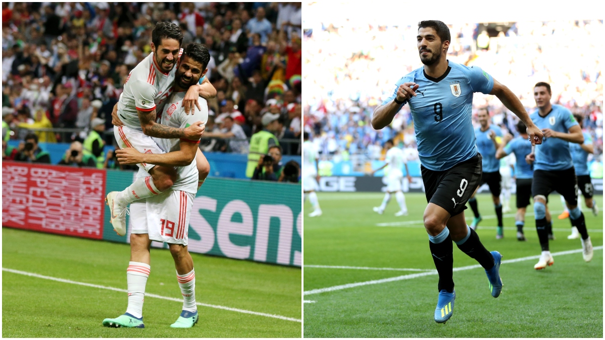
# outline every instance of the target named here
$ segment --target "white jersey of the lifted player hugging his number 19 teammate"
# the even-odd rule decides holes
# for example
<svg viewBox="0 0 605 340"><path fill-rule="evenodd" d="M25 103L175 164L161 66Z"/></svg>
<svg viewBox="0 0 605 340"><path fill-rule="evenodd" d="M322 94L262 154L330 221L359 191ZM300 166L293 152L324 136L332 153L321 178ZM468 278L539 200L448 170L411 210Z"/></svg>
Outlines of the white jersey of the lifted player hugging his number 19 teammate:
<svg viewBox="0 0 605 340"><path fill-rule="evenodd" d="M117 113L125 126L143 131L137 110L162 112L166 99L172 93L181 54L183 48L178 52L176 64L169 73L160 70L153 52L130 71L117 103Z"/></svg>

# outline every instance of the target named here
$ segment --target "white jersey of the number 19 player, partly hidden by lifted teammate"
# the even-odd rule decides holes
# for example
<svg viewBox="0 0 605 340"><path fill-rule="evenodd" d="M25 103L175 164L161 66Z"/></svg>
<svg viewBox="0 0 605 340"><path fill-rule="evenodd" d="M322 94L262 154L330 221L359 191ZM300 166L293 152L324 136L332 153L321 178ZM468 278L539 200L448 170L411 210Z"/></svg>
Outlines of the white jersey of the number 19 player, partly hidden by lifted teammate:
<svg viewBox="0 0 605 340"><path fill-rule="evenodd" d="M183 108L183 98L186 91L175 92L168 98L164 110L159 113L156 121L162 125L172 128L186 128L189 125L201 120L204 124L208 122L208 102L202 97L198 97L198 102L201 106L201 111L194 105L194 113L185 113ZM155 143L160 146L164 152L172 152L180 150L180 142L185 139L165 139L152 137ZM188 141L191 143L200 143L200 140ZM148 176L147 172L139 170L137 177ZM177 168L177 180L172 185L172 190L180 190L185 192L197 193L198 170L195 159L187 166Z"/></svg>

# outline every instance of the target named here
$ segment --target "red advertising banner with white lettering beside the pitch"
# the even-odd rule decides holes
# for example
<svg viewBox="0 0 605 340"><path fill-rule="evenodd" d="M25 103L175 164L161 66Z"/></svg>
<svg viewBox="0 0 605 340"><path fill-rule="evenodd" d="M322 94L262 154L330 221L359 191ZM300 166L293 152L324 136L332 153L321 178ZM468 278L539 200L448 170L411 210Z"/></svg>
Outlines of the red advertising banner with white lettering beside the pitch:
<svg viewBox="0 0 605 340"><path fill-rule="evenodd" d="M2 226L103 238L105 171L2 162Z"/></svg>

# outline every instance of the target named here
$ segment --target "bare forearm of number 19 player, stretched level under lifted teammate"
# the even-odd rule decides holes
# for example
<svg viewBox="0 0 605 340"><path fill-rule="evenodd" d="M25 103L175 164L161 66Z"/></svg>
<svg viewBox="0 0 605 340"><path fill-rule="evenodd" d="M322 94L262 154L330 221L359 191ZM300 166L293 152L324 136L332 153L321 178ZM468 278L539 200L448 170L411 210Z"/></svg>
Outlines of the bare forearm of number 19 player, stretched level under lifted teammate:
<svg viewBox="0 0 605 340"><path fill-rule="evenodd" d="M134 148L116 150L117 160L120 164L148 163L160 166L187 166L195 159L198 149L197 143L181 140L180 150L166 154L142 154Z"/></svg>

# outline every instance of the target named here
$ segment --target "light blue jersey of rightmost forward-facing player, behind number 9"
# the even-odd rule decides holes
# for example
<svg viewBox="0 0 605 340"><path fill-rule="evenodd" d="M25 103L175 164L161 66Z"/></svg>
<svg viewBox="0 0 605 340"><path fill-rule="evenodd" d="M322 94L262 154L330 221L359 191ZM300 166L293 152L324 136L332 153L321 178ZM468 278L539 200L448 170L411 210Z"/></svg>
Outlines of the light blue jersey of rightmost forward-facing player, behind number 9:
<svg viewBox="0 0 605 340"><path fill-rule="evenodd" d="M578 125L571 111L564 106L553 104L552 110L546 117L538 114L538 109L530 116L539 129L568 133L569 128ZM566 170L574 166L569 151L569 142L560 138L545 138L540 145L535 146L534 170Z"/></svg>

